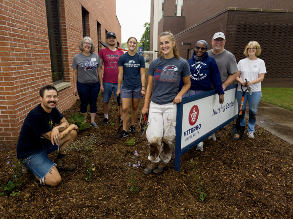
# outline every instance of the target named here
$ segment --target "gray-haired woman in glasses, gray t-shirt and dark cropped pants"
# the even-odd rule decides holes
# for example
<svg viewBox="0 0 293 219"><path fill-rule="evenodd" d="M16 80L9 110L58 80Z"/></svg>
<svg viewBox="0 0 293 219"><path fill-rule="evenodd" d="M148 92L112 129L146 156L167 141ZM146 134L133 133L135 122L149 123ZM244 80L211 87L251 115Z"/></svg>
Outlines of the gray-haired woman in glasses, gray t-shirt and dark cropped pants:
<svg viewBox="0 0 293 219"><path fill-rule="evenodd" d="M94 53L95 45L92 39L84 37L79 45L82 51L74 56L71 67L73 68L73 95L80 97L81 113L85 115L86 122L87 105L89 104L90 126L98 128L95 122L97 113L97 99L101 89L104 92L101 60Z"/></svg>

